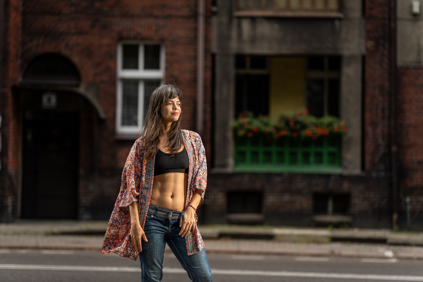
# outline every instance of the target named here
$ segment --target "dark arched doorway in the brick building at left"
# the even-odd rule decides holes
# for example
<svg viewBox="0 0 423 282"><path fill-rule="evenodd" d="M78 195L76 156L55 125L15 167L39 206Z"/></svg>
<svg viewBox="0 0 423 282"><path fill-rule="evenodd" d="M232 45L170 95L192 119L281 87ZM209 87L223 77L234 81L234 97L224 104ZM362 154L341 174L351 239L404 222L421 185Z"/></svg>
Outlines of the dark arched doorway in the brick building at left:
<svg viewBox="0 0 423 282"><path fill-rule="evenodd" d="M78 87L80 75L63 56L44 54L28 64L21 85L21 217L76 219L82 98L57 87Z"/></svg>

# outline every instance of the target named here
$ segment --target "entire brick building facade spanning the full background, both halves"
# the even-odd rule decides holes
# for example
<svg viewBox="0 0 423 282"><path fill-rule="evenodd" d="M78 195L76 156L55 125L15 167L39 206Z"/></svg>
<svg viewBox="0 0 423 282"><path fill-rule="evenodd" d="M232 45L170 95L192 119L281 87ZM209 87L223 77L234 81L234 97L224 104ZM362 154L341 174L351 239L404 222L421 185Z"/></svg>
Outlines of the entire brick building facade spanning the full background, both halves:
<svg viewBox="0 0 423 282"><path fill-rule="evenodd" d="M0 3L1 221L66 205L57 218L107 218L143 113L125 115L125 93L142 99L167 81L184 93L182 127L206 147L203 223L423 228L423 32L411 0ZM239 111L319 112L319 101L348 127L332 172L238 166L229 124ZM55 155L68 164L55 170ZM51 196L57 175L68 181Z"/></svg>

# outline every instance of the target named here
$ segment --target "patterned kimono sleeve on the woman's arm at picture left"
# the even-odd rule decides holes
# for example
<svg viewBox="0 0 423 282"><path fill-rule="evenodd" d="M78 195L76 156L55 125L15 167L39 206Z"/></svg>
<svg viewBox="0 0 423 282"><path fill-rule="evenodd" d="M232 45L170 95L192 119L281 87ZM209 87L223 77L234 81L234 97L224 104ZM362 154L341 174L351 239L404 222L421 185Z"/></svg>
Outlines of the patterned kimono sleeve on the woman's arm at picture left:
<svg viewBox="0 0 423 282"><path fill-rule="evenodd" d="M135 141L126 159L124 171L122 172L121 190L119 192L118 207L127 207L132 202L139 200L141 192L142 158L144 155L143 142L140 139Z"/></svg>

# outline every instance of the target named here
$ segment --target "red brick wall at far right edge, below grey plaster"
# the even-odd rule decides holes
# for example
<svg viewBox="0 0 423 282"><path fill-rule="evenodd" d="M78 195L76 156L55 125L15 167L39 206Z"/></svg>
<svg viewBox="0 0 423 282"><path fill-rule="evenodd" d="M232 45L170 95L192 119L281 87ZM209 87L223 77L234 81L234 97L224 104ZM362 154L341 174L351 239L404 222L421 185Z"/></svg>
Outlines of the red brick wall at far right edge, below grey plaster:
<svg viewBox="0 0 423 282"><path fill-rule="evenodd" d="M423 220L423 68L398 68L397 144L401 225L407 224L407 196L410 220L421 229Z"/></svg>

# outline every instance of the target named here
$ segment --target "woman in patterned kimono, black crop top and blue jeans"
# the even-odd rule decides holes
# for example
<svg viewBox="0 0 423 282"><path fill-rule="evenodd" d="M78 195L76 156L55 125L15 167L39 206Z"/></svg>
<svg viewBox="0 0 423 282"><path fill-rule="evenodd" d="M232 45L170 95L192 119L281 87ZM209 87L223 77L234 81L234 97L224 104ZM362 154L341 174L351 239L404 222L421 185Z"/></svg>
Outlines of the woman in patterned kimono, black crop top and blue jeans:
<svg viewBox="0 0 423 282"><path fill-rule="evenodd" d="M206 190L206 156L200 136L181 130L181 100L170 85L151 94L102 246L102 254L139 254L141 281L161 281L165 243L192 281L211 281L195 213Z"/></svg>

